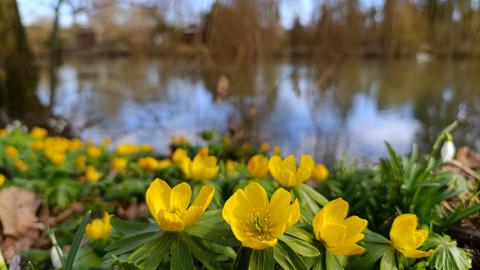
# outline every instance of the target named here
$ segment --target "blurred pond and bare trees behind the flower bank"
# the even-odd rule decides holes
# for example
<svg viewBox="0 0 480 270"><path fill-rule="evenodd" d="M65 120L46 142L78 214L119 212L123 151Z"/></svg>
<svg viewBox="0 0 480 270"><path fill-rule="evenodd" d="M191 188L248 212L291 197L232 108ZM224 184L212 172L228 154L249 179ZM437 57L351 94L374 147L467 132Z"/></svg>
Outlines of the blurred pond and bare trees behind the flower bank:
<svg viewBox="0 0 480 270"><path fill-rule="evenodd" d="M319 160L480 149L480 0L1 0L0 122Z"/></svg>

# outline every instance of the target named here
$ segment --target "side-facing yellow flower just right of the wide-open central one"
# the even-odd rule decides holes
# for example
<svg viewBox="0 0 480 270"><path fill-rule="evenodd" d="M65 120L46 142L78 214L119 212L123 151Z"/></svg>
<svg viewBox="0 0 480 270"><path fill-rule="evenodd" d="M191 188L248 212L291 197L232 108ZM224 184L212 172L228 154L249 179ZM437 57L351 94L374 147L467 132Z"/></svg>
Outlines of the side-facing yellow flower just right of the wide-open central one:
<svg viewBox="0 0 480 270"><path fill-rule="evenodd" d="M364 238L363 230L368 221L358 216L347 217L348 202L342 198L327 203L313 218L315 238L325 244L325 248L337 255L352 256L365 249L357 245Z"/></svg>

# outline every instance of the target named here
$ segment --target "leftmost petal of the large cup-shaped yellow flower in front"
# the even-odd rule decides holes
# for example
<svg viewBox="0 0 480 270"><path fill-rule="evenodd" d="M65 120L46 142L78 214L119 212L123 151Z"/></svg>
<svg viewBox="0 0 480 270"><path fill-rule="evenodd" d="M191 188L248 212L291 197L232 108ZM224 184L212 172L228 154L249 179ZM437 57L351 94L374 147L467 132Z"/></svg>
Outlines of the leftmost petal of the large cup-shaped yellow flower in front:
<svg viewBox="0 0 480 270"><path fill-rule="evenodd" d="M161 209L170 209L170 193L172 189L167 182L157 178L145 193L145 201L153 217L157 217Z"/></svg>

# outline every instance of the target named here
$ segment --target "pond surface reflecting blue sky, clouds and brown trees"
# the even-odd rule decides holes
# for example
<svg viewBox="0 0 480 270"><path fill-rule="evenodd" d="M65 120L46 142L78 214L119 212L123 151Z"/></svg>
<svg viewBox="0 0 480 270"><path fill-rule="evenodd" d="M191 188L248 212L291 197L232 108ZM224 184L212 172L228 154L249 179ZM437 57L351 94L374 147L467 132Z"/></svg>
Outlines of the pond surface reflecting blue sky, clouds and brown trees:
<svg viewBox="0 0 480 270"><path fill-rule="evenodd" d="M269 62L212 68L195 61L69 60L54 98L42 71L38 96L84 138L149 142L166 150L172 134L243 129L254 141L319 159L376 158L384 141L400 152L428 147L460 120L456 141L480 148L480 63L348 61L331 68ZM229 79L217 102L218 79ZM455 134L454 134L455 135Z"/></svg>

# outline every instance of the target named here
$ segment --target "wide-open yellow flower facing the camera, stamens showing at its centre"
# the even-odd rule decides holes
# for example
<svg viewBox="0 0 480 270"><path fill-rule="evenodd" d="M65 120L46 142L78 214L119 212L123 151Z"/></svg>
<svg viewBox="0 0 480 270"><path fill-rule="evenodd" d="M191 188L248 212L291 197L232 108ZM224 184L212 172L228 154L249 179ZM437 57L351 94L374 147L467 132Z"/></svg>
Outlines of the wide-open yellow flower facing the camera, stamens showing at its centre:
<svg viewBox="0 0 480 270"><path fill-rule="evenodd" d="M242 246L265 249L275 246L278 238L300 219L298 200L293 204L290 201L290 193L279 188L269 202L265 189L252 182L225 202L222 216Z"/></svg>

